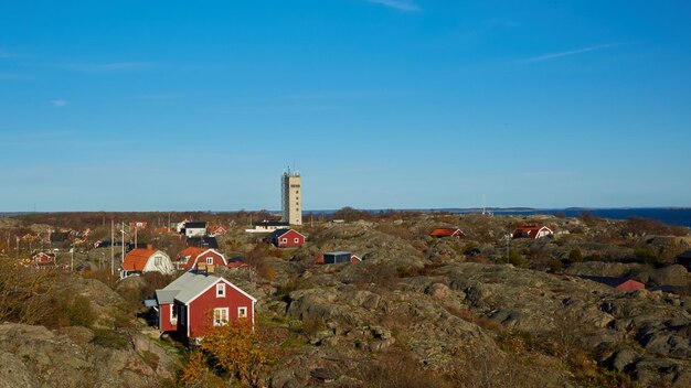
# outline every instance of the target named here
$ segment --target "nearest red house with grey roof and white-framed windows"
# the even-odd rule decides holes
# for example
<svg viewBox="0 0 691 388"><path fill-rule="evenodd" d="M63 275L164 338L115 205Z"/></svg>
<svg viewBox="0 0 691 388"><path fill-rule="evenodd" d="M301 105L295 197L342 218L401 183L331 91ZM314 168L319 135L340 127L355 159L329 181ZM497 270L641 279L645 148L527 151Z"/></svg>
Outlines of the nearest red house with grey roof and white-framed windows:
<svg viewBox="0 0 691 388"><path fill-rule="evenodd" d="M257 300L211 272L185 272L166 288L156 290L160 331L177 333L189 342L231 321L247 320L254 327Z"/></svg>

